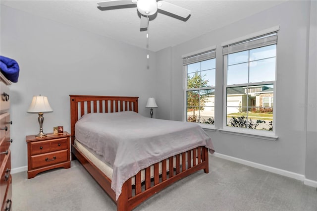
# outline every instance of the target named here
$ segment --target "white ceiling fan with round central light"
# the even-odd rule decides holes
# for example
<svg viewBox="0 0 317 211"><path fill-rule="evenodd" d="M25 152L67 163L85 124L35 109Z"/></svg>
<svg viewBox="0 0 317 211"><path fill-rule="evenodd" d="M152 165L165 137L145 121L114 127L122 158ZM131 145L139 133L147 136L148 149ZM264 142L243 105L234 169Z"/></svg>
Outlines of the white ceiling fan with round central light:
<svg viewBox="0 0 317 211"><path fill-rule="evenodd" d="M190 15L190 10L168 3L164 0L106 0L97 2L97 4L100 7L136 4L138 11L141 13L141 29L148 28L149 16L156 14L158 9L182 18L187 18Z"/></svg>

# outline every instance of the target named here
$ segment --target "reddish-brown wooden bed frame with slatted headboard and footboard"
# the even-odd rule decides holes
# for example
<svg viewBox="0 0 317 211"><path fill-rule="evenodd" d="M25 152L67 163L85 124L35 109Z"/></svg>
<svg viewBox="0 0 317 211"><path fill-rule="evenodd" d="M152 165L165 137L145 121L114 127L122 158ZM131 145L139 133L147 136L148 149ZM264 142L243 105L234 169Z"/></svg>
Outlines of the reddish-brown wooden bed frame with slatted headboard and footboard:
<svg viewBox="0 0 317 211"><path fill-rule="evenodd" d="M70 121L71 121L71 155L72 160L78 159L93 178L106 191L110 198L116 203L117 211L130 211L147 200L166 186L184 178L198 170L204 169L209 172L208 149L197 147L185 153L161 160L161 174L159 174L159 162L154 166L154 178L151 179L150 166L145 169L145 181L141 182L141 171L135 175L135 184L132 185L131 178L122 186L122 192L118 200L115 200L115 193L111 189L111 180L86 158L74 146L75 123L82 115L91 112L119 112L132 110L138 112L138 97L110 97L110 96L70 96ZM79 109L80 107L80 109ZM187 162L187 158L196 158ZM166 170L166 163L169 160L169 169ZM176 160L174 163L173 160ZM181 164L185 163L185 164ZM176 167L173 167L176 166Z"/></svg>

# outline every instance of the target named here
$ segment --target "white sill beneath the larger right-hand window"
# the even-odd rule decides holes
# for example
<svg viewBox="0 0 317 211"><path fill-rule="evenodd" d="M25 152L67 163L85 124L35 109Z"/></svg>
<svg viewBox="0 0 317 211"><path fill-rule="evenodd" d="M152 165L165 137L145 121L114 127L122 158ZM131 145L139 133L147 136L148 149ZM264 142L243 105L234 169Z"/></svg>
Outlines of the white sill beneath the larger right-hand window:
<svg viewBox="0 0 317 211"><path fill-rule="evenodd" d="M247 130L247 131L242 131ZM241 129L241 128L224 128L219 129L221 133L227 133L227 134L233 134L233 135L239 135L239 136L246 136L246 137L252 137L252 138L258 138L258 139L265 139L270 141L276 141L278 139L278 136L276 136L271 131L251 131L248 129Z"/></svg>

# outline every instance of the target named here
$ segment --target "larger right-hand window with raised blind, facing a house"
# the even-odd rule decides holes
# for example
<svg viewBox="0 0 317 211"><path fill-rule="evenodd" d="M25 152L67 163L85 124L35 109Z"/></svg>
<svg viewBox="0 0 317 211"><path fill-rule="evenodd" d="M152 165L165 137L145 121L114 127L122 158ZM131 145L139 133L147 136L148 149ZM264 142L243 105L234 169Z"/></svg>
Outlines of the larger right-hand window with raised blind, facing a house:
<svg viewBox="0 0 317 211"><path fill-rule="evenodd" d="M223 47L226 126L273 130L277 33Z"/></svg>

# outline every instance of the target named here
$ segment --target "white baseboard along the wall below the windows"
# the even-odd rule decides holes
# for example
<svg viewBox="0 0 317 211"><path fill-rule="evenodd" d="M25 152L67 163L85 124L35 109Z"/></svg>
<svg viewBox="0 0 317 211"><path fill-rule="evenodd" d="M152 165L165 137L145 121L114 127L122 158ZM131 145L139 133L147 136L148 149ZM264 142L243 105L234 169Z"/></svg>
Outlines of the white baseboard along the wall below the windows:
<svg viewBox="0 0 317 211"><path fill-rule="evenodd" d="M297 179L297 180L303 181L305 185L312 186L312 187L317 187L317 181L306 179L305 175L303 175L303 174L298 174L298 173L294 173L294 172L291 172L291 171L286 171L286 170L283 170L283 169L274 168L274 167L271 167L271 166L268 166L268 165L263 165L263 164L260 164L260 163L251 162L251 161L240 159L240 158L226 156L226 155L219 154L219 153L214 153L213 155L215 157L217 157L217 158L227 159L227 160L230 160L230 161L233 161L233 162L241 163L241 164L248 165L248 166L251 166L251 167L254 167L254 168L259 168L259 169L262 169L262 170L265 170L265 171L269 171L269 172L272 172L272 173L275 173L275 174L279 174L279 175L287 176L287 177L290 177L290 178L293 178L293 179Z"/></svg>

